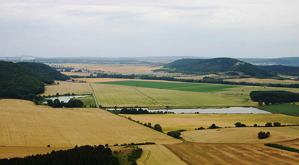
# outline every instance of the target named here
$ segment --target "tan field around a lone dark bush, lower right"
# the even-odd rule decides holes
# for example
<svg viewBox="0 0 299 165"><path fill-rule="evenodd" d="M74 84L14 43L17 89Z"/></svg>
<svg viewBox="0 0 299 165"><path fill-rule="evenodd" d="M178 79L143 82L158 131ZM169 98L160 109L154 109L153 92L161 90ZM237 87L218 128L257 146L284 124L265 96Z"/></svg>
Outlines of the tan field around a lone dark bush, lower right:
<svg viewBox="0 0 299 165"><path fill-rule="evenodd" d="M270 132L270 137L259 139L260 131ZM275 143L299 137L299 126L219 128L182 132L181 137L199 143Z"/></svg>

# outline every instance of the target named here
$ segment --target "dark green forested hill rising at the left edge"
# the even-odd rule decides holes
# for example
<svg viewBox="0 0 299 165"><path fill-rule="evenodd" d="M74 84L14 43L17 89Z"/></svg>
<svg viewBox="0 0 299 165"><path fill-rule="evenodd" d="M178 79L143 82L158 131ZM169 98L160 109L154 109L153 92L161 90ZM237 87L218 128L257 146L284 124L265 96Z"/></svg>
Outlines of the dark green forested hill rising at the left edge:
<svg viewBox="0 0 299 165"><path fill-rule="evenodd" d="M44 83L67 80L68 76L41 63L0 61L0 97L24 98L24 95L44 92Z"/></svg>

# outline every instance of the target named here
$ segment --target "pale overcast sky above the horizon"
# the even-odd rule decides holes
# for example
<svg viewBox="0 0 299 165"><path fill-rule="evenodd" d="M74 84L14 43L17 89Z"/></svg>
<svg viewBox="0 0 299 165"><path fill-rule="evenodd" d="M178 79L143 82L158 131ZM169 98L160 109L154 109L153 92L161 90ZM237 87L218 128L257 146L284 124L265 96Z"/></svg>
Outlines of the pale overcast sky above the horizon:
<svg viewBox="0 0 299 165"><path fill-rule="evenodd" d="M0 57L22 55L299 57L299 0L0 0Z"/></svg>

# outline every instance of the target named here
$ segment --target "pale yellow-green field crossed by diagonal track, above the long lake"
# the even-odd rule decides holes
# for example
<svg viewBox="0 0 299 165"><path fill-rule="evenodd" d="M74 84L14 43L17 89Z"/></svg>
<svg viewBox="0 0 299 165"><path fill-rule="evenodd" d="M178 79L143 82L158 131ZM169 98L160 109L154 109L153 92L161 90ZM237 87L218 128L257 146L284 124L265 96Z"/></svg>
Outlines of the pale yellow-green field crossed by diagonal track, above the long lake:
<svg viewBox="0 0 299 165"><path fill-rule="evenodd" d="M153 82L151 82L153 83ZM104 107L223 107L246 106L212 93L92 83L98 103Z"/></svg>

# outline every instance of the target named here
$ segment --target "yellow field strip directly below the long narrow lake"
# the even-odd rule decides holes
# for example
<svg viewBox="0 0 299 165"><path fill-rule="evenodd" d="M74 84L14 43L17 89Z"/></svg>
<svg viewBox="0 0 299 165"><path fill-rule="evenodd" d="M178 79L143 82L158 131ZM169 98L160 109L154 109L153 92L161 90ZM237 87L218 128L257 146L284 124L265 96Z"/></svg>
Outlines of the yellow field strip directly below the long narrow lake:
<svg viewBox="0 0 299 165"><path fill-rule="evenodd" d="M248 126L265 125L267 122L282 124L299 124L299 118L283 114L120 114L142 123L160 124L163 132L180 129L194 130L198 127L208 128L213 123L219 127L235 127L236 122Z"/></svg>

